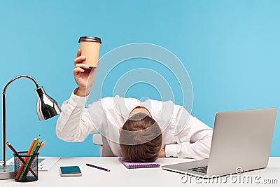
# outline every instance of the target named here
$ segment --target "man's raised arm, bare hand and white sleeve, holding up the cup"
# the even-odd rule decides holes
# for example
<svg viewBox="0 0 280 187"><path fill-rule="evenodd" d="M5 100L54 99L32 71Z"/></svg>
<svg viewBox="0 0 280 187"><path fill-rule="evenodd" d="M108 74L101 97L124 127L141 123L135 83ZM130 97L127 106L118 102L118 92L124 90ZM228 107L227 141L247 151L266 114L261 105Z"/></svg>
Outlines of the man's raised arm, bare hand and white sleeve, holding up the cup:
<svg viewBox="0 0 280 187"><path fill-rule="evenodd" d="M73 69L78 88L73 91L70 99L62 104L62 112L57 120L57 137L65 141L83 141L89 134L97 132L102 125L102 121L97 118L104 115L100 102L90 104L90 111L93 111L90 112L91 116L85 108L97 68L90 69L88 65L81 63L83 60L85 57L80 56L80 50L78 50Z"/></svg>

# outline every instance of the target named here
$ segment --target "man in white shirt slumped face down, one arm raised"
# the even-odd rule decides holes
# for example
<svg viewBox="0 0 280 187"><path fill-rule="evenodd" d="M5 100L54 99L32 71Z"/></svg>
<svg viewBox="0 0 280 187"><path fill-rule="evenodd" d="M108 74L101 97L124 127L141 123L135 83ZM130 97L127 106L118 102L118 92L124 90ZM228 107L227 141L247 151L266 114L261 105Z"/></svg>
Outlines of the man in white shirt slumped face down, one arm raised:
<svg viewBox="0 0 280 187"><path fill-rule="evenodd" d="M116 96L85 108L97 68L90 69L83 60L78 50L73 69L78 88L62 104L57 137L83 141L100 130L107 145L103 156L123 156L128 162L153 162L158 157L209 158L211 128L171 101L140 102Z"/></svg>

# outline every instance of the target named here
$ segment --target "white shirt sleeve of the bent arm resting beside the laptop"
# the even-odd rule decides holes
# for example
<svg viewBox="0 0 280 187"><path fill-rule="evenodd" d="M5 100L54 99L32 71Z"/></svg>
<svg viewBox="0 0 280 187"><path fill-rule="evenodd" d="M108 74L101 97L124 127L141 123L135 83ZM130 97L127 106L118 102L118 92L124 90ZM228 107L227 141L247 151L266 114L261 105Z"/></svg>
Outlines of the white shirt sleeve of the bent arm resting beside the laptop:
<svg viewBox="0 0 280 187"><path fill-rule="evenodd" d="M174 136L177 144L165 146L167 157L209 158L213 130L183 109L174 119Z"/></svg>

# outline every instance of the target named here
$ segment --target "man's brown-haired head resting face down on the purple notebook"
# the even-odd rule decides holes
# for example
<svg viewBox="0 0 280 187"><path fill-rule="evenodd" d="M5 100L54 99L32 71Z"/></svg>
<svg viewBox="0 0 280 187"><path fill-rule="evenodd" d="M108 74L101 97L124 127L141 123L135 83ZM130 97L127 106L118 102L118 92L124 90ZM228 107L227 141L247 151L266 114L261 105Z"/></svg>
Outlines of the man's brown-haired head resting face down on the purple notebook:
<svg viewBox="0 0 280 187"><path fill-rule="evenodd" d="M136 113L120 131L120 151L127 162L153 162L162 146L158 123L146 113Z"/></svg>

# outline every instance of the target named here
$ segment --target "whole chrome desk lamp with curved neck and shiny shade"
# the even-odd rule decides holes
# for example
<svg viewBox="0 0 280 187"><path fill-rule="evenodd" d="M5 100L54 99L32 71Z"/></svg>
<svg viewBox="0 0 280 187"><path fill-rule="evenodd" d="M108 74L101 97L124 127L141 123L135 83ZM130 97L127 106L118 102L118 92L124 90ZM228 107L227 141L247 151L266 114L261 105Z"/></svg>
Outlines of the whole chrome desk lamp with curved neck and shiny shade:
<svg viewBox="0 0 280 187"><path fill-rule="evenodd" d="M3 161L0 162L3 163L3 165L0 165L0 179L15 178L15 171L13 165L6 165L6 89L8 88L8 85L10 85L10 83L17 80L18 78L29 78L31 81L35 83L36 85L35 93L37 96L36 109L37 109L39 120L47 120L48 118L57 116L57 114L61 112L61 109L57 104L57 102L55 102L54 99L48 96L43 90L43 87L40 87L37 81L31 76L27 76L27 75L16 76L15 78L8 81L8 83L6 83L2 93Z"/></svg>

